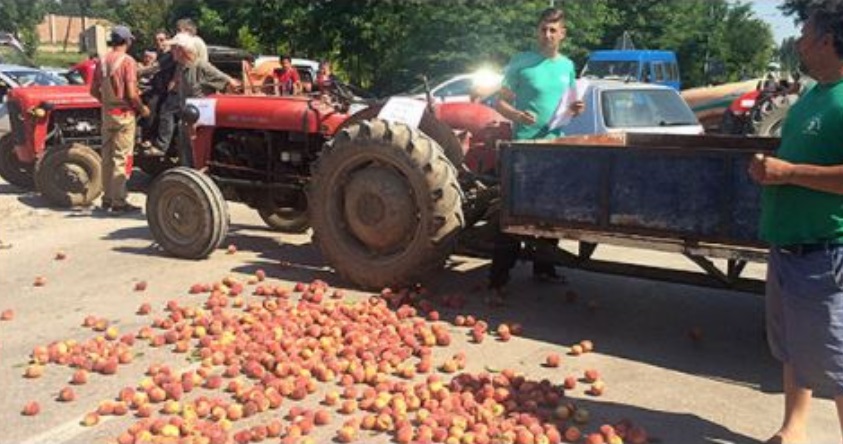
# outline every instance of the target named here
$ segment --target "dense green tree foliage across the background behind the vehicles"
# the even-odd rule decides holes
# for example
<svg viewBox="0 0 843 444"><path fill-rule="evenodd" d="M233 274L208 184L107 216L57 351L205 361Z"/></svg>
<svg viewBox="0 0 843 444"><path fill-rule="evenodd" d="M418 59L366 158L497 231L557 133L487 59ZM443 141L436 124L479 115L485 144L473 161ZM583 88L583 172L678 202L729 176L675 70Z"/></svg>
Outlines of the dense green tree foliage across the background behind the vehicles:
<svg viewBox="0 0 843 444"><path fill-rule="evenodd" d="M0 0L3 4L21 3ZM547 0L36 0L70 12L86 8L151 33L190 17L210 44L256 54L330 59L353 83L386 93L478 66L502 67L536 40ZM801 5L815 0L786 0ZM557 0L567 17L563 52L578 67L589 51L615 46L628 32L639 49L676 51L683 82L713 79L706 62L722 62L717 80L760 74L774 54L769 25L746 3L727 0ZM782 7L785 10L785 6ZM793 7L791 7L793 9ZM798 9L798 7L796 8ZM5 10L5 8L4 8Z"/></svg>

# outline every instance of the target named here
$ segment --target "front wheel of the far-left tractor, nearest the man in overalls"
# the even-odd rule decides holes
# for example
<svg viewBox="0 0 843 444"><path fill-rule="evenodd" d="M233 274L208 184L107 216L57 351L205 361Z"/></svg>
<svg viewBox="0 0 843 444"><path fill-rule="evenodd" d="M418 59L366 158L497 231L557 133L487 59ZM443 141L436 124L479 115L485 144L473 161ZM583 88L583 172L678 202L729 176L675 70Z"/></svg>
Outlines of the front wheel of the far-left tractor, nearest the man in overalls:
<svg viewBox="0 0 843 444"><path fill-rule="evenodd" d="M93 148L74 143L51 148L35 167L35 186L62 207L86 207L102 194L102 159Z"/></svg>

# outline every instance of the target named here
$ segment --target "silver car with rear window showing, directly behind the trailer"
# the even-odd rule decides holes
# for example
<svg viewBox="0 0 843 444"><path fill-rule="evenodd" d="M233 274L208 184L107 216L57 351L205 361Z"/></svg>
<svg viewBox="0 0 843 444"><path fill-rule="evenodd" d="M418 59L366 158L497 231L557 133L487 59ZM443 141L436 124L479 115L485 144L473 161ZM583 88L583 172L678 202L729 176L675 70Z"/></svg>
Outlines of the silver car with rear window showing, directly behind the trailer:
<svg viewBox="0 0 843 444"><path fill-rule="evenodd" d="M585 111L562 127L566 136L585 134L702 134L699 120L679 93L649 83L591 80Z"/></svg>

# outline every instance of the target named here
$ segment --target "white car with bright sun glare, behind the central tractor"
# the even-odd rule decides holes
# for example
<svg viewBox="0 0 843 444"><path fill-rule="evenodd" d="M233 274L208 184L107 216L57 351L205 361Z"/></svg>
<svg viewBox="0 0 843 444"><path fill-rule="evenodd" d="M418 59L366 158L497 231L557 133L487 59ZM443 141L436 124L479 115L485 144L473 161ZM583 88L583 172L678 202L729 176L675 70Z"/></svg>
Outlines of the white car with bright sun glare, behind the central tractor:
<svg viewBox="0 0 843 444"><path fill-rule="evenodd" d="M434 82L428 82L430 95L439 103L470 102L472 97L487 97L501 87L503 75L494 71L479 70L468 74L446 76ZM424 84L416 86L406 93L415 99L426 100Z"/></svg>

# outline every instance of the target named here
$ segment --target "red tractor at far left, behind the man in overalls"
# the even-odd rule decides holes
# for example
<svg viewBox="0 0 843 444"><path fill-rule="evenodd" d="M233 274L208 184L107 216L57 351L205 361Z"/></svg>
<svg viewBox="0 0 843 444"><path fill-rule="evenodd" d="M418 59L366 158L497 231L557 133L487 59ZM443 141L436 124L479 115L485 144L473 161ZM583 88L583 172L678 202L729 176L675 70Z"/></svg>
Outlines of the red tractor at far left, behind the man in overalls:
<svg viewBox="0 0 843 444"><path fill-rule="evenodd" d="M7 106L11 132L0 138L0 176L21 188L37 189L57 205L90 205L102 192L102 137L101 106L89 86L15 88ZM175 163L145 156L140 149L133 158L152 174Z"/></svg>

